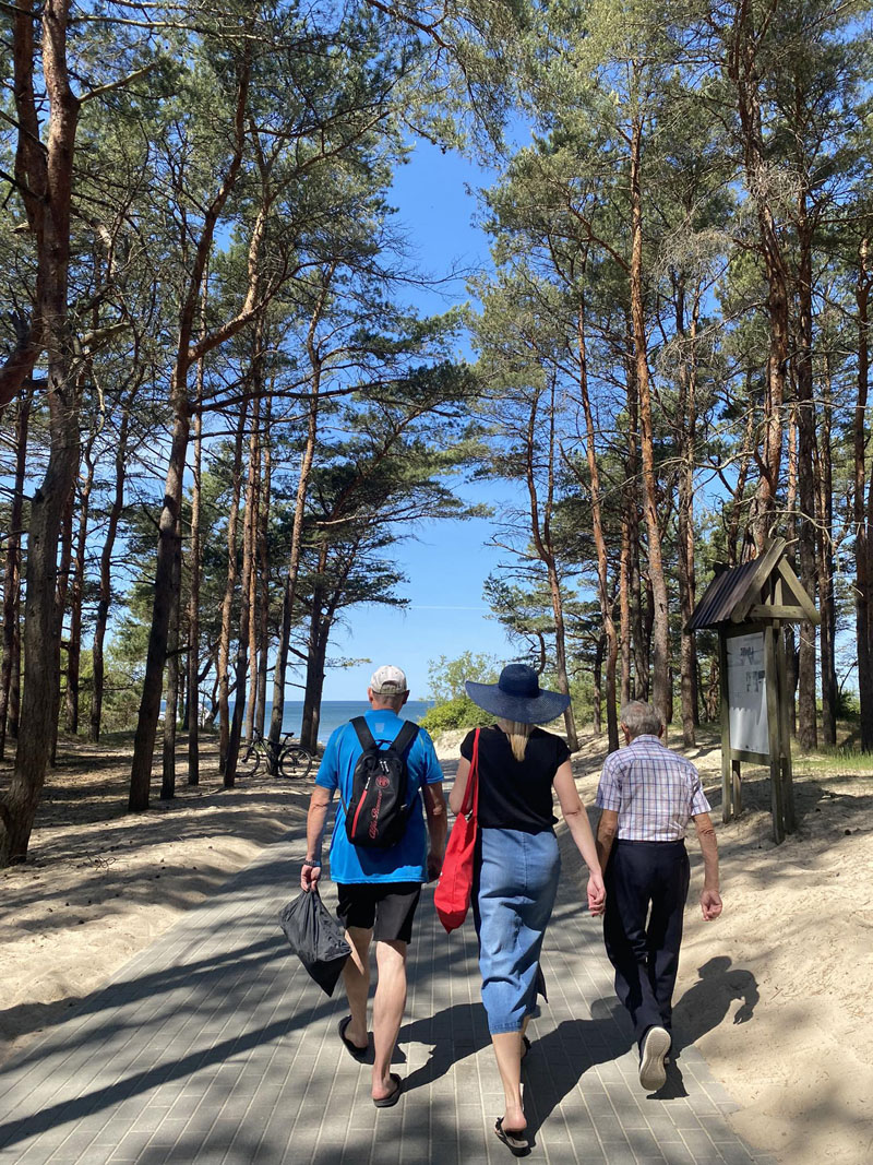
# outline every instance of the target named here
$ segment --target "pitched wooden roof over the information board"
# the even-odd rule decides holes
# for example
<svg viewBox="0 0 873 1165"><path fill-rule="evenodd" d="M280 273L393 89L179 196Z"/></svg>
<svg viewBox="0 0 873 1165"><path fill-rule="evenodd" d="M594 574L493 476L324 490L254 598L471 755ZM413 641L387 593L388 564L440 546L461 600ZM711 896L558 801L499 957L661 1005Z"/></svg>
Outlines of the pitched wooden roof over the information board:
<svg viewBox="0 0 873 1165"><path fill-rule="evenodd" d="M788 620L819 623L815 603L785 557L785 538L776 538L760 558L716 574L694 608L687 631L737 623ZM781 581L782 601L773 601Z"/></svg>

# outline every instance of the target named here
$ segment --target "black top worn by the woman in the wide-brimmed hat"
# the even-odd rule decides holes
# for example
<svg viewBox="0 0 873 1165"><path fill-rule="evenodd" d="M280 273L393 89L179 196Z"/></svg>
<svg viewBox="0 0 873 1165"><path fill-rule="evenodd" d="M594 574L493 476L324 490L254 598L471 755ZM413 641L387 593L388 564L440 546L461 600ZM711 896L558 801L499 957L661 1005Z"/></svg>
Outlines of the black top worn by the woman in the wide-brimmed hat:
<svg viewBox="0 0 873 1165"><path fill-rule="evenodd" d="M474 732L464 736L461 756L473 760ZM552 812L552 782L570 750L560 736L534 728L523 761L512 755L509 736L492 725L478 737L478 824L484 829L542 833L558 818Z"/></svg>

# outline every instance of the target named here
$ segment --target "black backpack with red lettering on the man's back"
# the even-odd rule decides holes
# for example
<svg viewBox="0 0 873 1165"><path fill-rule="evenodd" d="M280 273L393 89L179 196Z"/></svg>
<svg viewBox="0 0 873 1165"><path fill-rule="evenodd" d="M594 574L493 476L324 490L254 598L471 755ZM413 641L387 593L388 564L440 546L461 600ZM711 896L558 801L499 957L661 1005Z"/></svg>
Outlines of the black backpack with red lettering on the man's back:
<svg viewBox="0 0 873 1165"><path fill-rule="evenodd" d="M388 748L378 747L363 716L355 716L352 726L363 753L352 775L349 803L342 803L346 835L355 846L388 849L397 845L406 829L406 757L418 735L418 725L407 720Z"/></svg>

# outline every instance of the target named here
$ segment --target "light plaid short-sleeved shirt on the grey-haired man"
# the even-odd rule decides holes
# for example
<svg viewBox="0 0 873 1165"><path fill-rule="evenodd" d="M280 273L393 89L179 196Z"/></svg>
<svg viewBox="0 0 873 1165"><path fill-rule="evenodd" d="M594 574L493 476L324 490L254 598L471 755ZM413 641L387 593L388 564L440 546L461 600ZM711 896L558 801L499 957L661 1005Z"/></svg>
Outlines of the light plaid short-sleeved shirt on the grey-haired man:
<svg viewBox="0 0 873 1165"><path fill-rule="evenodd" d="M618 813L619 841L680 841L689 818L710 811L697 769L658 736L606 757L595 804Z"/></svg>

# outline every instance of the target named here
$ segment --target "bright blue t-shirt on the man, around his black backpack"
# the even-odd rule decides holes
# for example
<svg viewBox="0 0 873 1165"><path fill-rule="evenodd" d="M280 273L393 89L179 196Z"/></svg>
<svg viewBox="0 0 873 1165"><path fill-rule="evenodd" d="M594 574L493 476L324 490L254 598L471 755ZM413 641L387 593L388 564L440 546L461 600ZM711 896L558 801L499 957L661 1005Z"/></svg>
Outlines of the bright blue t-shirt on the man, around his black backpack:
<svg viewBox="0 0 873 1165"><path fill-rule="evenodd" d="M365 713L367 727L381 748L386 748L404 721L390 708ZM436 760L433 741L419 728L409 751L406 763L410 775L407 805L411 807L406 832L389 849L367 849L353 845L346 835L345 800L352 795L352 776L357 758L363 753L352 723L341 725L331 733L321 757L315 784L331 792L340 789L336 818L331 839L331 877L347 885L362 882L425 882L427 881L427 826L421 805L421 788L442 781L442 769Z"/></svg>

